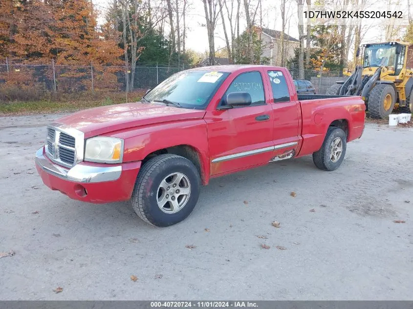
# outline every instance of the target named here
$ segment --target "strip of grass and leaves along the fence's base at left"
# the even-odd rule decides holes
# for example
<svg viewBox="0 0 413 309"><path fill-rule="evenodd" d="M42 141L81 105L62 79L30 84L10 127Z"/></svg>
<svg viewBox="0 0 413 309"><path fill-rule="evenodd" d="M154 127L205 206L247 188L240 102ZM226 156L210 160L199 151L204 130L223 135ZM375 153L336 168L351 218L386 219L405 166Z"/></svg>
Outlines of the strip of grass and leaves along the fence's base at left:
<svg viewBox="0 0 413 309"><path fill-rule="evenodd" d="M144 93L132 93L128 95L128 102L139 101ZM77 111L97 106L126 103L126 96L113 94L108 96L72 96L59 99L39 101L14 101L0 102L0 115L28 115L47 114L66 111Z"/></svg>

